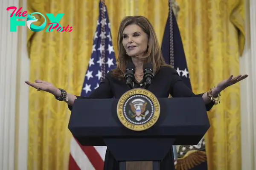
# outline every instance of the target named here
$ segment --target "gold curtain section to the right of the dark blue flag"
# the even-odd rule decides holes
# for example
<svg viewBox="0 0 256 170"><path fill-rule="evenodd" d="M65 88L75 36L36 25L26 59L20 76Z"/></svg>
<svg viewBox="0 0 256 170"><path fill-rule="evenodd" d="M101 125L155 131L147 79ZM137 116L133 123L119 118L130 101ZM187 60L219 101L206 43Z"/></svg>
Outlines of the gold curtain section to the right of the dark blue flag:
<svg viewBox="0 0 256 170"><path fill-rule="evenodd" d="M193 91L208 91L230 75L239 75L239 54L244 48L243 0L176 1ZM241 170L239 84L221 93L221 103L208 116L208 170Z"/></svg>

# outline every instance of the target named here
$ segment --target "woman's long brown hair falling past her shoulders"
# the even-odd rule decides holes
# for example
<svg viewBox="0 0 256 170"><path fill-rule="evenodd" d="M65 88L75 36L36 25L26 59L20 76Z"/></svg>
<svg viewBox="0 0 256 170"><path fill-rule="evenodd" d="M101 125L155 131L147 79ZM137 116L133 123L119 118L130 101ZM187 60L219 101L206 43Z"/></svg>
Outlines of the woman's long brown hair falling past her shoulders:
<svg viewBox="0 0 256 170"><path fill-rule="evenodd" d="M157 40L156 33L154 31L153 26L149 22L149 20L143 16L128 16L125 17L118 30L117 35L117 51L118 51L118 58L117 58L117 67L113 70L113 77L121 78L124 76L125 73L125 65L129 62L132 62L131 57L126 54L125 48L122 45L122 33L125 27L136 24L140 26L140 28L147 34L148 36L148 48L143 55L143 58L146 62L150 62L153 65L153 71L156 73L159 71L161 66L170 66L166 65L165 60L162 55L162 51L160 45Z"/></svg>

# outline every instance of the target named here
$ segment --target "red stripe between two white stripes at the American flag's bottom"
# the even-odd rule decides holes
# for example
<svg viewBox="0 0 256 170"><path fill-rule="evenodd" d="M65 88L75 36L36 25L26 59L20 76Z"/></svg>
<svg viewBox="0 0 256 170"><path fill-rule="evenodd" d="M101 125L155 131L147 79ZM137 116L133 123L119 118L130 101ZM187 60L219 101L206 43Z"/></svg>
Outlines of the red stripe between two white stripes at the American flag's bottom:
<svg viewBox="0 0 256 170"><path fill-rule="evenodd" d="M76 139L76 138L75 138ZM100 157L98 151L93 146L82 146L77 140L76 142L79 144L81 149L84 151L87 158L90 160L91 164L95 168L95 170L103 170L104 160Z"/></svg>

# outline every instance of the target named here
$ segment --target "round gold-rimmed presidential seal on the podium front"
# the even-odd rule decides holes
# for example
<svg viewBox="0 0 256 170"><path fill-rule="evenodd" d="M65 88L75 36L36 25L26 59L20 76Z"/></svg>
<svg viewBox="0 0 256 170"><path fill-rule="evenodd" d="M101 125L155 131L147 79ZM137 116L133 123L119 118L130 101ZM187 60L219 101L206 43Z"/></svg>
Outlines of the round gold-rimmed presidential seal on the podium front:
<svg viewBox="0 0 256 170"><path fill-rule="evenodd" d="M160 105L156 96L142 88L125 92L120 97L116 110L122 125L136 131L152 127L160 115Z"/></svg>

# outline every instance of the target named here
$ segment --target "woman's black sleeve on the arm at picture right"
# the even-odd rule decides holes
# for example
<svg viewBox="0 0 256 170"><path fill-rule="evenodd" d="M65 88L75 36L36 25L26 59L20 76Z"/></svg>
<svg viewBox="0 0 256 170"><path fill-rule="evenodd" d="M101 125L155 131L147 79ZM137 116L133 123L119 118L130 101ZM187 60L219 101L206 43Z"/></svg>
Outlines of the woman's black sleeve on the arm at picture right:
<svg viewBox="0 0 256 170"><path fill-rule="evenodd" d="M177 71L175 71L172 74L172 82L170 86L170 94L172 97L202 97L204 93L202 94L194 94L190 88L188 88L185 83L182 81L182 79L179 77ZM210 111L213 107L214 102L210 102L209 104L206 104L206 110Z"/></svg>

